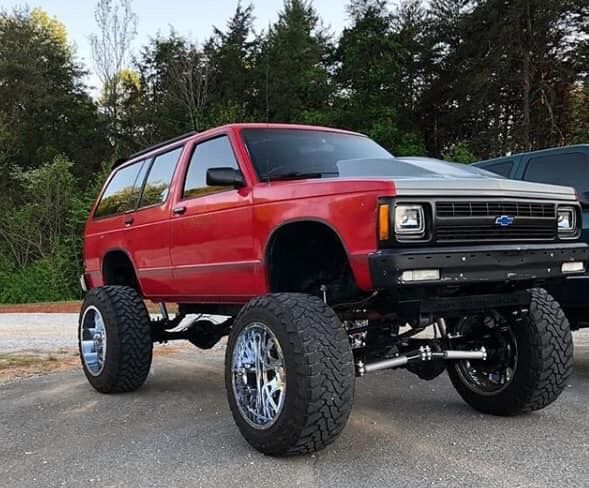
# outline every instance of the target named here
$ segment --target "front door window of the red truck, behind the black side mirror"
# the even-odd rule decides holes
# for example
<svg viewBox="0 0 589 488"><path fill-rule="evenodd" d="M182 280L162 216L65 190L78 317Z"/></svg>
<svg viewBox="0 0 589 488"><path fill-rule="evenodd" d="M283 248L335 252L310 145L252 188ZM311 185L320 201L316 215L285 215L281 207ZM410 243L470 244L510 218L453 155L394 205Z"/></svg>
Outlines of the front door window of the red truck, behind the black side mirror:
<svg viewBox="0 0 589 488"><path fill-rule="evenodd" d="M201 142L194 148L184 183L184 198L227 191L226 186L207 186L207 170L219 167L239 169L227 136Z"/></svg>

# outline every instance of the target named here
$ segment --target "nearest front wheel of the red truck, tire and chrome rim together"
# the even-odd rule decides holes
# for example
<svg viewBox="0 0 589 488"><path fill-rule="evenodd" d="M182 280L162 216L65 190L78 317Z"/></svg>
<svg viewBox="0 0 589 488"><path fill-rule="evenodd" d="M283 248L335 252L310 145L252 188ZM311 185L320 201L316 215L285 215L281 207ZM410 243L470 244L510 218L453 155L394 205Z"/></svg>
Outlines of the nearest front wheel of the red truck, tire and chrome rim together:
<svg viewBox="0 0 589 488"><path fill-rule="evenodd" d="M254 298L235 320L225 359L233 418L264 454L306 454L344 429L354 396L349 340L318 298Z"/></svg>

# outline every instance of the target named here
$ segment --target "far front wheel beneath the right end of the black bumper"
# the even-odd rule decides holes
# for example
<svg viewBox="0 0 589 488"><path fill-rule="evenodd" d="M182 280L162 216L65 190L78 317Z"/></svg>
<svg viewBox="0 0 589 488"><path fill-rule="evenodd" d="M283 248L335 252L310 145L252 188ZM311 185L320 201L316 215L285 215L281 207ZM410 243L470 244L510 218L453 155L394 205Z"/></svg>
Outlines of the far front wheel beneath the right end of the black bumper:
<svg viewBox="0 0 589 488"><path fill-rule="evenodd" d="M491 371L485 361L448 366L456 391L480 412L517 415L540 410L558 398L572 373L573 342L564 312L546 290L532 289L530 294L527 315L509 321L500 335L490 332L495 344L502 343L508 352L503 369Z"/></svg>

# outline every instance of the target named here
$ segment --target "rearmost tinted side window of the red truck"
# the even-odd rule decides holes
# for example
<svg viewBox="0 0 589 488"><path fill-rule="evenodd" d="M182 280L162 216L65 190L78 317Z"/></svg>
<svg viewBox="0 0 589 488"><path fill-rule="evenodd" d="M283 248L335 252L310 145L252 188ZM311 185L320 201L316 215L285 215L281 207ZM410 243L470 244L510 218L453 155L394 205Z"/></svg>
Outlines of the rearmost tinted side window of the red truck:
<svg viewBox="0 0 589 488"><path fill-rule="evenodd" d="M94 217L106 217L133 210L140 196L146 167L145 161L139 161L118 170L104 190Z"/></svg>

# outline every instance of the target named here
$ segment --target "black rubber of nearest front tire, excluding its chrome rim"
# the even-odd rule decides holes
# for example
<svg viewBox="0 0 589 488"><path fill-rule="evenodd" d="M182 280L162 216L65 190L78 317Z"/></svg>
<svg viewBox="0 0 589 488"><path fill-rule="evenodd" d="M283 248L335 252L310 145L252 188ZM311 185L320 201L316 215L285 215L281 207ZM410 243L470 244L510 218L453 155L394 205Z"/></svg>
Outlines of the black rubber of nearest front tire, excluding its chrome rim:
<svg viewBox="0 0 589 488"><path fill-rule="evenodd" d="M279 343L286 378L282 409L267 428L242 413L232 368L240 334L255 324L263 324ZM317 297L278 293L251 300L235 320L225 364L233 418L255 449L274 456L311 453L344 429L354 396L352 351L341 322Z"/></svg>

